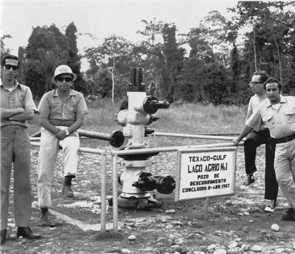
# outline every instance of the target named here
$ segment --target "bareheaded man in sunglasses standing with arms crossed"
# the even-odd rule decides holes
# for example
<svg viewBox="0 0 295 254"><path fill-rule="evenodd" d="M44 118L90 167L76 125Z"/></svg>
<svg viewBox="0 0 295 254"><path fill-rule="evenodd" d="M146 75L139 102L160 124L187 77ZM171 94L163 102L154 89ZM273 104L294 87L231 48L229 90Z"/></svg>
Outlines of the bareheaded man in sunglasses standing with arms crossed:
<svg viewBox="0 0 295 254"><path fill-rule="evenodd" d="M1 79L1 244L7 236L9 189L13 164L14 220L17 236L38 239L29 228L31 201L31 149L26 120L33 119L37 108L29 87L15 79L18 57L3 58Z"/></svg>

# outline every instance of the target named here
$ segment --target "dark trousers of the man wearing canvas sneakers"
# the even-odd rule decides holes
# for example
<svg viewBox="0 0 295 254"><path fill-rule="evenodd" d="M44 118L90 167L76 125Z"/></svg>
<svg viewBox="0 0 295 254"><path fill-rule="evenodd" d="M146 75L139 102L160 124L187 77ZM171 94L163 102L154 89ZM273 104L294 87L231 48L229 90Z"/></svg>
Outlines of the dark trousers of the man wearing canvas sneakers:
<svg viewBox="0 0 295 254"><path fill-rule="evenodd" d="M268 142L270 138L269 130L263 131L251 131L244 142L244 154L245 154L245 170L246 174L253 174L256 169L256 149L261 144L265 144L265 192L264 198L273 200L277 199L278 184L276 179L276 173L274 171L274 152L275 146L271 146Z"/></svg>

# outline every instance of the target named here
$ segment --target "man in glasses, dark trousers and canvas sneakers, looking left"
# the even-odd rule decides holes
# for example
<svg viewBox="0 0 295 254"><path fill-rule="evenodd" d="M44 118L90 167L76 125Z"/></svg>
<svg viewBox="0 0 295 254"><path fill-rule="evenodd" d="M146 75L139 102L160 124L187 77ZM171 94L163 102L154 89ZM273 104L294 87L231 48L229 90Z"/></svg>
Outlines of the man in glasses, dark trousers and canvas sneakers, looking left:
<svg viewBox="0 0 295 254"><path fill-rule="evenodd" d="M250 81L250 87L254 92L254 96L250 98L247 119L257 110L260 103L268 101L268 98L263 88L263 83L269 78L269 75L265 71L254 72L252 80ZM255 165L256 149L261 144L265 144L265 192L264 198L269 200L265 207L265 212L273 212L276 209L278 183L276 180L276 174L273 167L274 163L274 150L275 147L270 147L268 139L270 138L269 129L262 125L258 131L251 131L244 142L244 154L245 154L245 170L246 180L242 184L241 189L247 189L255 184L253 173L257 171Z"/></svg>

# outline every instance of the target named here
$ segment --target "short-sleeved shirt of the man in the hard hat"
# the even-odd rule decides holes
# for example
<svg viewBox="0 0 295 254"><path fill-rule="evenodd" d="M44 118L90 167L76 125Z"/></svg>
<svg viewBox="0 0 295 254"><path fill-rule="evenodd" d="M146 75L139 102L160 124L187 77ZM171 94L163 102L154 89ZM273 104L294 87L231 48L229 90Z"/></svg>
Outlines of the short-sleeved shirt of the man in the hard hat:
<svg viewBox="0 0 295 254"><path fill-rule="evenodd" d="M57 89L45 93L39 103L38 111L47 119L76 120L77 114L88 113L84 96L81 92L70 89L65 101L57 93Z"/></svg>

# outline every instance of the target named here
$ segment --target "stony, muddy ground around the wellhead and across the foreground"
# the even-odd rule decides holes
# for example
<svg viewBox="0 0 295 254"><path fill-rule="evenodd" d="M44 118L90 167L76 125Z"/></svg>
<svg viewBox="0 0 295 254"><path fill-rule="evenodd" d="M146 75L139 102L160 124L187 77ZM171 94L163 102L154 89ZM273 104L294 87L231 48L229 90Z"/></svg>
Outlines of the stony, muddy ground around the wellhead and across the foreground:
<svg viewBox="0 0 295 254"><path fill-rule="evenodd" d="M82 230L67 221L62 227L38 227L39 209L37 207L37 150L32 151L33 213L31 229L40 233L40 240L9 239L1 246L1 253L108 253L127 250L133 253L193 253L203 251L210 244L228 247L237 242L240 246L248 244L246 253L253 253L252 247L258 244L261 253L294 253L295 222L283 221L286 199L279 190L278 207L274 213L265 213L264 200L264 147L258 149L255 173L256 185L249 190L239 186L244 180L243 151L238 149L235 195L209 199L207 220L203 219L203 199L175 202L173 193L157 195L163 201L160 208L148 210L128 210L119 208L118 233L96 230ZM163 153L159 161L159 174L175 176L175 154ZM111 158L108 158L108 163ZM52 186L52 210L64 214L81 223L95 225L100 223L100 160L90 154L81 154L79 176L73 182L75 199L62 199L62 155L59 154L57 170ZM109 163L111 165L111 163ZM120 170L120 169L119 169ZM112 194L112 169L108 167L107 194ZM12 185L11 185L12 186ZM120 187L119 187L120 192ZM11 195L12 196L12 195ZM10 228L14 234L12 197L10 205ZM78 204L78 205L75 205ZM167 210L174 210L165 213ZM52 214L52 217L57 216ZM112 206L107 207L107 222L112 223ZM279 232L271 230L272 224L280 227ZM131 237L128 240L129 236ZM179 247L177 247L179 246ZM125 250L124 250L125 249ZM129 252L129 253L130 253ZM124 253L124 252L123 252Z"/></svg>

